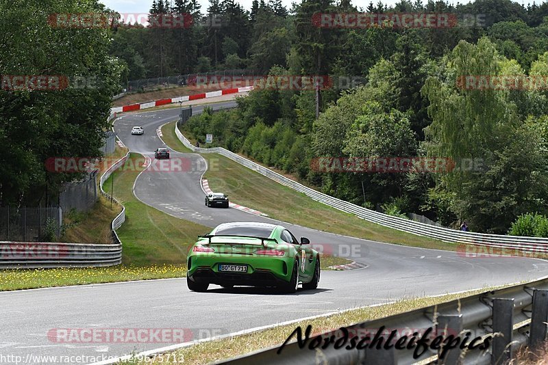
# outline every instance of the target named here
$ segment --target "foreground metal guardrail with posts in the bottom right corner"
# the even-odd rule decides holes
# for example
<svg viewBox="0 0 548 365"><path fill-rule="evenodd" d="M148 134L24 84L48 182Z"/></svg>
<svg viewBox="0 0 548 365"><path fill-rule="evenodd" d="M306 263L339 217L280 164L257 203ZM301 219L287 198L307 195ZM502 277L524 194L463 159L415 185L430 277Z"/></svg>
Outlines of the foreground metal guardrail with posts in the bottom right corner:
<svg viewBox="0 0 548 365"><path fill-rule="evenodd" d="M334 343L342 338L342 332L336 329L334 332L328 329L318 331L316 328L316 333L323 333L321 338L335 336L327 349L316 347L311 350L308 347L313 342L314 335L310 336L310 341L302 349L298 342L289 342L279 354L279 346L276 346L217 364L505 364L521 345L532 347L543 342L546 339L547 322L548 279L544 278L346 327L349 337L370 336L372 340L377 330L384 326L385 330L381 333L385 341L390 332L396 330L390 344L396 344L399 338L406 335L410 340L414 332L417 332L418 340L430 327L433 335L429 337L429 344L438 335L443 336L443 339L451 335L453 339L460 337L461 342L456 348L446 352L443 359L440 359L440 349L427 349L414 358L414 348L396 349L393 346L390 349L382 347L377 350L373 345L373 349L369 349L367 344L371 342L363 342L365 349L335 349ZM302 328L303 338L305 329ZM467 341L466 332L471 332ZM486 349L460 349L462 342L470 344L478 336L491 337ZM294 336L291 341L295 340ZM449 342L448 340L447 343ZM383 342L383 346L385 343ZM408 343L409 341L406 342ZM476 342L482 343L482 340ZM441 345L443 344L442 342Z"/></svg>

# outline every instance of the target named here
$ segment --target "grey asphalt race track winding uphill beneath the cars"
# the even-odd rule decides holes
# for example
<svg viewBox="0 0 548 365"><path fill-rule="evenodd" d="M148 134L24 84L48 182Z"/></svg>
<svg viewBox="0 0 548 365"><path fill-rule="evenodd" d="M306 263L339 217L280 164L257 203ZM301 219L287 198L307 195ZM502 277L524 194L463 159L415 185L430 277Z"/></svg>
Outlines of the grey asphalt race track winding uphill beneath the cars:
<svg viewBox="0 0 548 365"><path fill-rule="evenodd" d="M219 103L214 108L234 104ZM201 109L194 107L193 113ZM153 151L164 147L156 130L177 119L178 114L178 108L127 114L116 121L115 131L133 152L153 159ZM136 125L143 126L144 135L130 135L130 129ZM227 221L273 222L235 208L204 206L200 187L206 167L203 159L198 154L171 152L171 158L174 157L190 159L190 171L140 174L134 193L142 202L210 227ZM353 260L368 267L323 271L317 290L299 290L294 295L243 287L227 290L214 285L208 293L193 293L186 287L185 279L0 293L0 354L18 355L23 360L32 354L34 362L31 358L26 364L40 363L36 360L39 355L126 355L172 343L58 343L48 339L47 334L55 328L179 328L192 334L188 340L196 340L402 297L535 280L548 273L548 262L543 260L464 258L456 252L377 243L284 225L297 237L307 236L312 243L328 244L326 247L341 254L352 253ZM86 360L73 363L77 362ZM41 363L55 364L51 359L42 359Z"/></svg>

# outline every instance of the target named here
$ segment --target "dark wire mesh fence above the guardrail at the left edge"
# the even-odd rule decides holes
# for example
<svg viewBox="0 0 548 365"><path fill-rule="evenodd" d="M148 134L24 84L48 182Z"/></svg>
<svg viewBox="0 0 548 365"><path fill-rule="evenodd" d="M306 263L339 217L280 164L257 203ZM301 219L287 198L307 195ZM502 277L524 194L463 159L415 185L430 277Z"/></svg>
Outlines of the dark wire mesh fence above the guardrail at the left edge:
<svg viewBox="0 0 548 365"><path fill-rule="evenodd" d="M0 241L49 241L61 234L62 208L0 207Z"/></svg>

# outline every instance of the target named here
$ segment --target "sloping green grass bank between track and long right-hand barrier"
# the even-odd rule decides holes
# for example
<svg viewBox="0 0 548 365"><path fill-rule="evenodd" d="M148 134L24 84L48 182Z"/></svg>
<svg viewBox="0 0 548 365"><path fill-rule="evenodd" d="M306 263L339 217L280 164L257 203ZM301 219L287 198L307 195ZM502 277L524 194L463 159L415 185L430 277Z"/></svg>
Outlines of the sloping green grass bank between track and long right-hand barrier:
<svg viewBox="0 0 548 365"><path fill-rule="evenodd" d="M174 124L171 124L171 128L174 128ZM174 149L183 146L176 136L175 139L170 139L168 145ZM213 191L222 191L229 195L232 201L257 209L271 218L372 241L449 251L455 251L459 247L453 243L386 228L355 215L338 211L220 154L202 154L202 156L208 161L209 166L204 178L208 179Z"/></svg>

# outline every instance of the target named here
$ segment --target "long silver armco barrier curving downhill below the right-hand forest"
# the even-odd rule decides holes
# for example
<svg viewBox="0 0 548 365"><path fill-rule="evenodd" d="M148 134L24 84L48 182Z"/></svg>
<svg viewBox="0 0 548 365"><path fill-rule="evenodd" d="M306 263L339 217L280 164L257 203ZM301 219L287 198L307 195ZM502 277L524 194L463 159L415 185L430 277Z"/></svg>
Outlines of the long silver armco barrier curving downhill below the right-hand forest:
<svg viewBox="0 0 548 365"><path fill-rule="evenodd" d="M192 146L190 141L182 135L179 131L179 128L175 126L175 134L180 141L190 150L201 153L218 153L222 156L225 156L232 161L240 163L249 169L258 172L272 180L276 181L279 184L290 187L299 193L303 193L308 197L321 202L328 206L343 211L345 213L352 213L357 217L365 219L366 221L371 221L373 223L385 226L388 228L393 228L396 230L401 230L403 232L408 232L416 234L419 236L426 236L433 239L439 239L445 242L452 243L467 243L471 245L487 245L489 247L495 247L501 251L505 249L519 249L521 252L532 252L534 254L545 254L548 253L548 239L538 238L538 237L524 237L524 236L503 236L499 234L485 234L485 233L476 233L476 232L463 232L460 230L452 230L451 228L431 226L429 224L423 224L421 222L412 221L410 219L394 217L392 215L386 215L384 213L379 213L371 211L369 209L363 208L356 204L350 202L345 202L338 198L334 198L331 195L320 193L310 187L306 187L302 184L299 184L290 178L286 178L277 172L267 169L264 166L254 163L245 157L241 157L234 152L226 150L222 147L214 148L198 148Z"/></svg>

